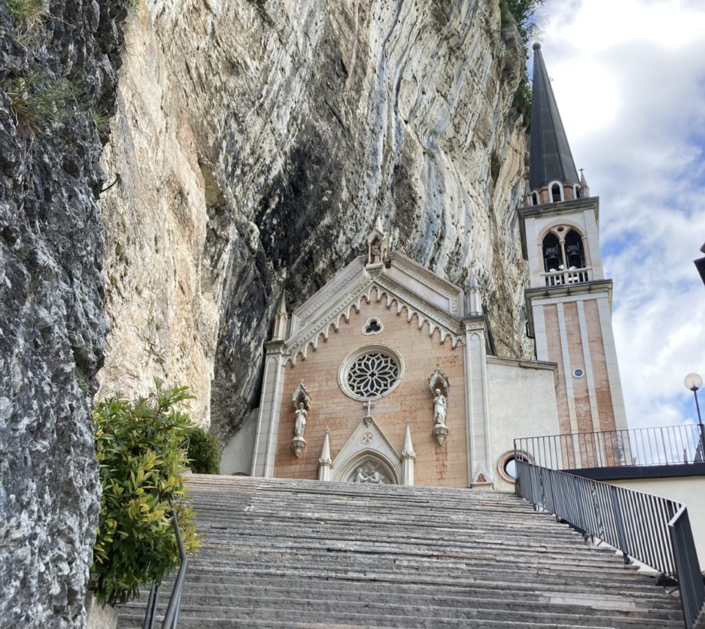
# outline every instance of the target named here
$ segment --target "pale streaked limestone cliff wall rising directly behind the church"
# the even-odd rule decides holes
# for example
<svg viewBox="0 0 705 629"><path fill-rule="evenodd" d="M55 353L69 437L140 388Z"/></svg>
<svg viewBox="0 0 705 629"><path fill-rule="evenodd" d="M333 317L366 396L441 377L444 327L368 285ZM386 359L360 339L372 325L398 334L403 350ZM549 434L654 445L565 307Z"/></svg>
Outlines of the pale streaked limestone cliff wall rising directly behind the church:
<svg viewBox="0 0 705 629"><path fill-rule="evenodd" d="M496 0L148 0L127 31L102 393L188 384L223 439L258 404L281 292L309 297L377 213L453 282L474 261L498 351L530 351L524 52Z"/></svg>

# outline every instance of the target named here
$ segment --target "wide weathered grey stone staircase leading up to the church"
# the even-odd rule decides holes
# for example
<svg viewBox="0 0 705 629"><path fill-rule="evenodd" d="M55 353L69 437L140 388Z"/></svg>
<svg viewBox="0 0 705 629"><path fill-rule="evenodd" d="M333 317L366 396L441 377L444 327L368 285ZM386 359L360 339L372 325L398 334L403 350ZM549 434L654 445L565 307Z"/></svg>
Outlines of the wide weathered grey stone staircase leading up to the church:
<svg viewBox="0 0 705 629"><path fill-rule="evenodd" d="M207 475L189 484L203 540L179 629L683 626L654 578L511 494ZM142 627L145 599L120 609L119 629Z"/></svg>

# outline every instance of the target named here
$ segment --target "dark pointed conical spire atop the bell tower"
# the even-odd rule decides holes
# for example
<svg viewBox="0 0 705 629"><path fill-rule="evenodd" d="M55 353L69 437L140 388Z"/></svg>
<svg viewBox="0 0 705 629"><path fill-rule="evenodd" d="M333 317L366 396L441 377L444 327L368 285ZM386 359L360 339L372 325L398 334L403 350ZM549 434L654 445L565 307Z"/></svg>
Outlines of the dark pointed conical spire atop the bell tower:
<svg viewBox="0 0 705 629"><path fill-rule="evenodd" d="M529 187L537 190L554 180L580 183L539 42L534 44L532 98Z"/></svg>

